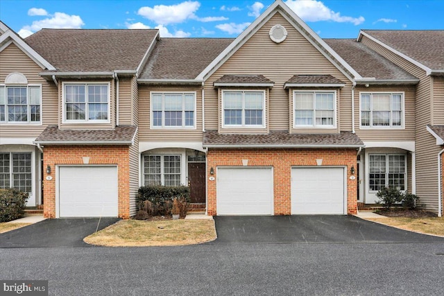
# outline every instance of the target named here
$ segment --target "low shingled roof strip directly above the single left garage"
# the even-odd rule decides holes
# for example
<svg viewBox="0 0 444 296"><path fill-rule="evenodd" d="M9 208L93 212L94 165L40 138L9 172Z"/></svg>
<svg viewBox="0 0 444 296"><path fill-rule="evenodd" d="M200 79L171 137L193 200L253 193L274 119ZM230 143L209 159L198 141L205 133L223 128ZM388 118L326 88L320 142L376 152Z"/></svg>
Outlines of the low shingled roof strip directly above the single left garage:
<svg viewBox="0 0 444 296"><path fill-rule="evenodd" d="M120 125L112 130L60 130L57 125L50 125L35 139L35 143L129 145L136 130L133 125Z"/></svg>

